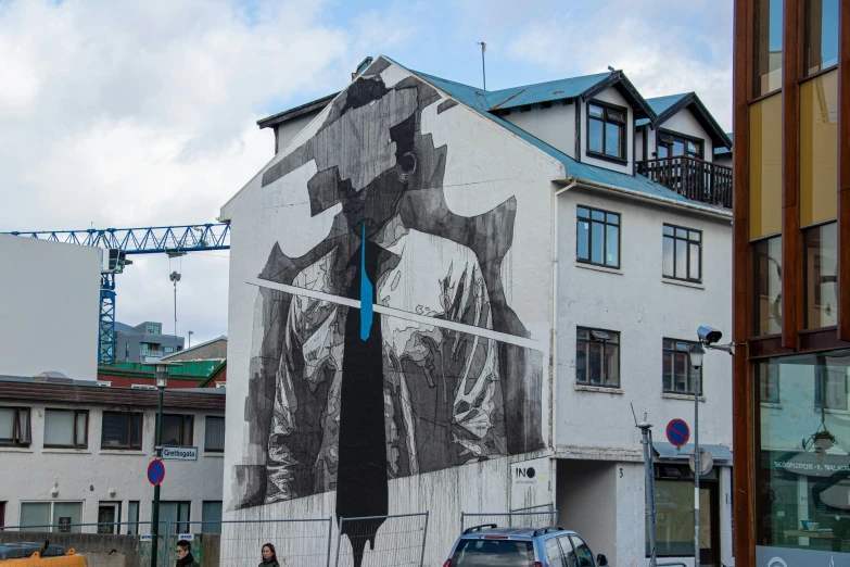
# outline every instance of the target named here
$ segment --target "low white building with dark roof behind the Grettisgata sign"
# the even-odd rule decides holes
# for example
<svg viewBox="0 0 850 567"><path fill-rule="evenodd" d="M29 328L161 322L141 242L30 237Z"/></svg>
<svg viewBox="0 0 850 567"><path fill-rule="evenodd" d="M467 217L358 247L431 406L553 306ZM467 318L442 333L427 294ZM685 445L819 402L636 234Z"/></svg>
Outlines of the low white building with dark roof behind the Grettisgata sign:
<svg viewBox="0 0 850 567"><path fill-rule="evenodd" d="M0 526L149 522L157 395L0 376ZM165 390L163 444L196 446L198 461L165 462L163 521L220 519L224 410L224 389ZM135 529L120 532L128 528ZM99 531L109 529L115 528Z"/></svg>

